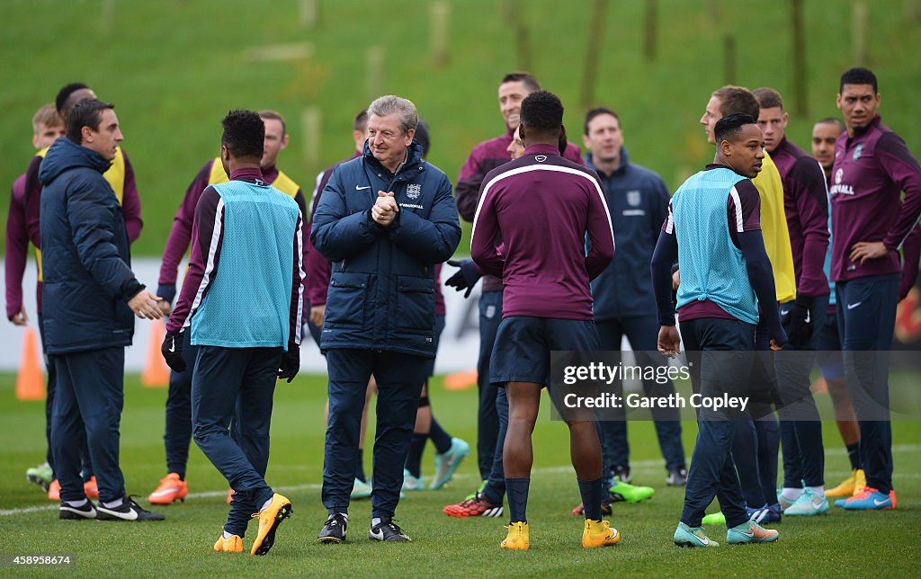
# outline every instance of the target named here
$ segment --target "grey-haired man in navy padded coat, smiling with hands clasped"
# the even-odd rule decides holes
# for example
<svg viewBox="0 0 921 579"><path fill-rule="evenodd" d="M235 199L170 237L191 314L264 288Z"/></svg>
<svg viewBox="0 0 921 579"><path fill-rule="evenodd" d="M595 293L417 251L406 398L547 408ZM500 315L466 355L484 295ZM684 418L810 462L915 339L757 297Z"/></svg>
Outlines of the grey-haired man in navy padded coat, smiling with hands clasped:
<svg viewBox="0 0 921 579"><path fill-rule="evenodd" d="M405 98L368 107L364 153L335 168L310 240L332 261L321 350L330 420L318 539L345 539L367 380L378 381L371 527L377 540L407 541L393 523L427 362L435 356L435 264L461 241L451 184L413 142L418 114Z"/></svg>

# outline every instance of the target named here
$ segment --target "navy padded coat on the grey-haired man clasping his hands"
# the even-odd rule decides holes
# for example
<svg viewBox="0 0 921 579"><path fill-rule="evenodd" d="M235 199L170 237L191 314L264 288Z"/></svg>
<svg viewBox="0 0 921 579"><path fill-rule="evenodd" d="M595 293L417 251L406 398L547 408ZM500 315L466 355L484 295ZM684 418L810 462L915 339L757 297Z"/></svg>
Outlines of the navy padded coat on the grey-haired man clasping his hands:
<svg viewBox="0 0 921 579"><path fill-rule="evenodd" d="M400 212L389 227L371 218L378 191ZM396 174L365 144L323 189L310 241L332 261L321 350L355 348L435 357L435 264L461 241L451 183L413 143Z"/></svg>

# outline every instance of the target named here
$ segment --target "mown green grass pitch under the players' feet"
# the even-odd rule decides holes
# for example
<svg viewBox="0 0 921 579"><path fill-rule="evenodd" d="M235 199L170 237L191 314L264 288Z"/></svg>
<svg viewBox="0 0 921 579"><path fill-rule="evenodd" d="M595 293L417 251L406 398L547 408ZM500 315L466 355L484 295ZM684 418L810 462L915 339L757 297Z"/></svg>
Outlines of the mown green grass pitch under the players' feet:
<svg viewBox="0 0 921 579"><path fill-rule="evenodd" d="M314 542L325 519L320 503L325 385L321 376L298 376L275 394L272 457L267 479L291 498L295 514L281 527L264 558L215 553L211 547L227 515L227 482L192 445L188 480L192 495L184 504L158 511L163 523L131 524L59 521L55 506L24 472L44 455L43 405L17 402L14 377L0 375L0 553L70 553L77 576L588 576L588 575L784 575L918 576L921 573L921 424L893 423L896 511L846 513L793 520L776 526L771 545L681 550L671 533L681 512L683 492L665 486L665 470L651 423L630 424L635 482L656 488L643 504L615 504L612 523L621 543L604 550L580 546L581 519L569 515L579 502L575 474L568 465L565 425L551 421L544 400L534 434L536 457L530 492L531 550L498 548L507 519L453 519L441 507L463 498L477 485L475 457L459 469L443 491L411 493L397 517L414 539L384 545L367 539L370 505L353 504L348 544ZM686 388L687 385L679 385ZM451 434L475 440L473 391L448 391L436 385L431 395L438 420ZM824 397L822 397L824 398ZM122 414L122 469L128 492L146 497L164 475L163 406L166 389L143 388L136 376L125 387ZM827 400L820 400L821 403ZM690 453L696 427L685 421ZM834 423L824 430L829 447L826 477L843 478L847 459ZM424 475L431 474L432 447L426 449ZM367 467L370 457L366 457ZM142 501L146 504L146 501ZM244 538L248 550L255 523ZM725 529L711 527L722 540ZM48 574L47 569L0 570Z"/></svg>

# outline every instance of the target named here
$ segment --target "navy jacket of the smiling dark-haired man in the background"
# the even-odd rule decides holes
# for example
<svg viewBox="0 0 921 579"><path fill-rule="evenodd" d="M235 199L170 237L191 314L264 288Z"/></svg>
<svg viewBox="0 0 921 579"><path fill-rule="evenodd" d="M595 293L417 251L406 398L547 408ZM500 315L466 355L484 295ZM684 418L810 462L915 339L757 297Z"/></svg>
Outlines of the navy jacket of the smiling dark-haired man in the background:
<svg viewBox="0 0 921 579"><path fill-rule="evenodd" d="M595 169L590 153L585 164ZM655 172L631 163L626 149L621 149L621 166L610 177L595 170L617 245L611 265L591 282L595 319L655 316L656 299L647 270L668 215L669 190Z"/></svg>

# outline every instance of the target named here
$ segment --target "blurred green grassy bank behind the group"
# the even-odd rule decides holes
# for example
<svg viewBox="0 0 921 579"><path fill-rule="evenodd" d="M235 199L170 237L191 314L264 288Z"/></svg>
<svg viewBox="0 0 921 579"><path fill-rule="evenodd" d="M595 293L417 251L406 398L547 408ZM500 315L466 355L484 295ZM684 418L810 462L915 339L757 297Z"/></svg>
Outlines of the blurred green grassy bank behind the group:
<svg viewBox="0 0 921 579"><path fill-rule="evenodd" d="M301 6L311 4L319 6L319 19L308 26ZM351 154L357 110L387 93L414 100L431 127L429 160L453 181L471 147L502 132L496 86L502 75L521 68L563 99L570 139L581 145L581 87L595 3L448 0L444 65L433 61L429 48L431 4L4 0L0 218L9 184L33 154L32 114L72 81L86 82L117 105L145 221L135 255L162 253L182 194L204 161L217 155L219 122L230 108L271 108L286 116L291 145L280 166L308 194L321 168ZM647 3L608 2L591 102L620 113L632 160L658 171L674 191L713 158L698 120L717 87L775 87L791 110L787 134L808 146L812 123L839 115L834 95L841 73L868 64L880 77L884 121L918 154L921 59L905 57L921 50L918 3L863 2L866 62L855 56L855 4L802 3L808 112L799 113L792 97L789 2L658 0L653 61L642 50ZM527 54L519 50L519 25ZM725 66L727 39L735 42L732 74ZM269 45L296 45L308 55L259 60ZM370 73L369 54L382 63ZM321 112L319 127L302 121L311 108ZM317 151L310 154L313 140Z"/></svg>

